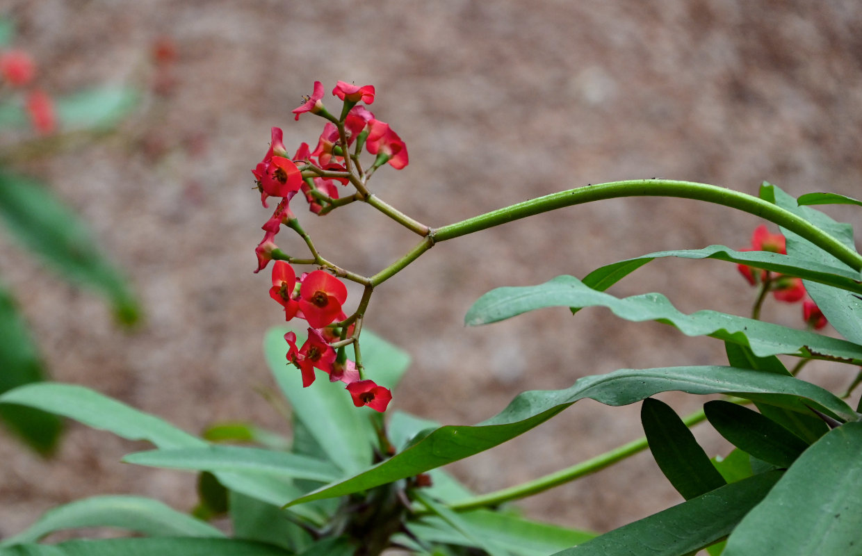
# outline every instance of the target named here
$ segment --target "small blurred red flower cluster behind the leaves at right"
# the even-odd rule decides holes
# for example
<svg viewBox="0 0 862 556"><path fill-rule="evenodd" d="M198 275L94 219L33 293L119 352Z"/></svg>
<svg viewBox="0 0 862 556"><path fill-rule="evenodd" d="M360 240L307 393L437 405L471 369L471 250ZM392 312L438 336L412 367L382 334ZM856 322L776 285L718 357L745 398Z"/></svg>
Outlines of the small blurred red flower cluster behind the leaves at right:
<svg viewBox="0 0 862 556"><path fill-rule="evenodd" d="M752 247L745 247L740 251L768 251L771 253L787 254L787 239L783 234L770 234L765 224L754 228L752 234ZM737 265L740 274L748 281L748 284L758 285L769 283L768 287L772 296L778 301L785 303L796 303L803 301L803 320L812 328L820 329L826 326L826 317L823 316L816 303L808 297L802 278L773 274L763 269L752 268L746 265Z"/></svg>

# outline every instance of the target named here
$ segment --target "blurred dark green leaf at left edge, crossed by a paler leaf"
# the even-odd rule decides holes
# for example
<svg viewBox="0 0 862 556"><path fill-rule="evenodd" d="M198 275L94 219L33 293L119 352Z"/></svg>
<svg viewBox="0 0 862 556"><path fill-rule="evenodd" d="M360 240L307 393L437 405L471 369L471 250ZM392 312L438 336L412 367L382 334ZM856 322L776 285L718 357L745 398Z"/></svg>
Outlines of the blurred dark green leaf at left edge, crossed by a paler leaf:
<svg viewBox="0 0 862 556"><path fill-rule="evenodd" d="M0 284L0 394L46 378L27 323ZM57 446L62 422L56 415L21 405L0 405L0 419L39 453L47 455Z"/></svg>

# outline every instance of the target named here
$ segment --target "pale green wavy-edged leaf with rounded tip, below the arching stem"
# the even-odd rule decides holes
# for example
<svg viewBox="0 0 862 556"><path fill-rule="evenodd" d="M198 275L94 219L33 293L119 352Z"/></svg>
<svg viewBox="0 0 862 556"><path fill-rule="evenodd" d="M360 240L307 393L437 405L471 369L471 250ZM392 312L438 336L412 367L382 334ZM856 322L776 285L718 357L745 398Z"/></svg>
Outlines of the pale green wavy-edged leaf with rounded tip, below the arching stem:
<svg viewBox="0 0 862 556"><path fill-rule="evenodd" d="M621 299L592 290L573 276L558 276L534 286L490 290L467 311L465 322L475 326L503 321L534 309L594 306L606 307L627 321L663 322L689 336L709 335L741 344L750 347L759 357L784 353L862 365L862 346L846 340L717 311L703 310L685 315L661 294L648 293Z"/></svg>

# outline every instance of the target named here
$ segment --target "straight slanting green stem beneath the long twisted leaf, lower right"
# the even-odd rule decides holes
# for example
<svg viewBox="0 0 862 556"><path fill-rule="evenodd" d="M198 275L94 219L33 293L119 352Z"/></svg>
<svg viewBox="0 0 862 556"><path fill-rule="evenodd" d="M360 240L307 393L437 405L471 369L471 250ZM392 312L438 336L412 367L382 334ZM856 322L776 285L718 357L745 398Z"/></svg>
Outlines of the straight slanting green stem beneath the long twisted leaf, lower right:
<svg viewBox="0 0 862 556"><path fill-rule="evenodd" d="M690 415L686 415L683 422L687 427L692 427L706 419L703 415L703 409L698 409ZM579 464L572 465L559 472L553 472L545 477L537 478L528 483L517 484L513 487L496 492L489 492L478 497L467 498L461 502L456 502L448 505L449 509L456 511L467 511L470 509L487 508L497 506L504 502L518 500L520 498L530 497L534 494L539 494L545 490L552 489L560 484L565 484L575 479L590 475L592 473L603 470L609 465L613 465L622 459L633 456L649 447L647 437L643 436L638 440L632 440L628 444L623 444L621 447L615 447L609 452L597 455L595 458L587 459ZM422 510L420 510L420 513Z"/></svg>

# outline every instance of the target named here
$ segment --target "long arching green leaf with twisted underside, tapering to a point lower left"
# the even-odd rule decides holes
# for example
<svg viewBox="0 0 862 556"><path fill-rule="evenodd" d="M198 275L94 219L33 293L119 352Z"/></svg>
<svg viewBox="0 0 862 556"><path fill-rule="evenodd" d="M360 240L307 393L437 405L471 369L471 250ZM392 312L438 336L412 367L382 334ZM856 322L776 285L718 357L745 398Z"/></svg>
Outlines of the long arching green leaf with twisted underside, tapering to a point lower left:
<svg viewBox="0 0 862 556"><path fill-rule="evenodd" d="M524 392L488 421L472 427L436 428L402 453L290 504L367 490L464 459L527 432L585 397L607 405L627 405L668 390L690 394L733 394L746 399L768 397L771 403L789 409L808 412L805 406L808 404L840 419L855 419L856 415L828 390L793 377L721 366L621 369L580 378L565 390Z"/></svg>

